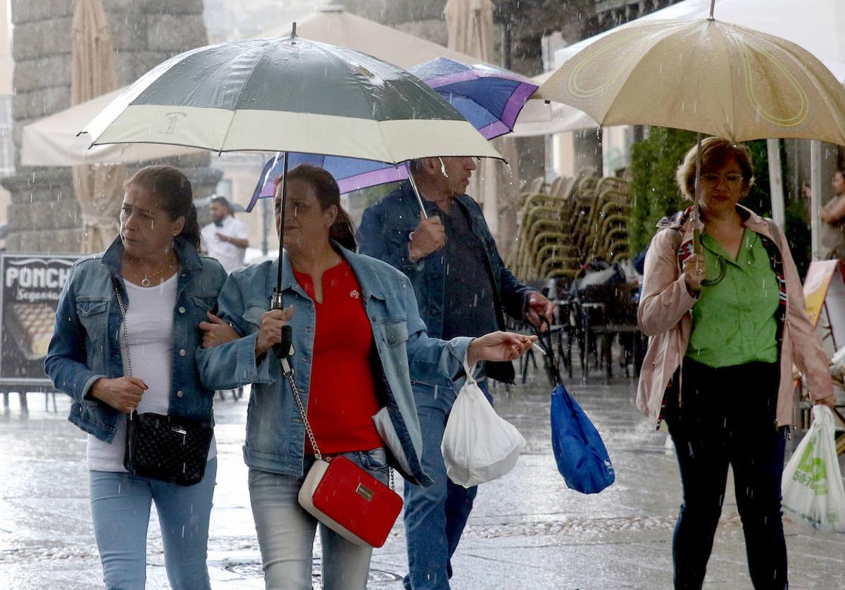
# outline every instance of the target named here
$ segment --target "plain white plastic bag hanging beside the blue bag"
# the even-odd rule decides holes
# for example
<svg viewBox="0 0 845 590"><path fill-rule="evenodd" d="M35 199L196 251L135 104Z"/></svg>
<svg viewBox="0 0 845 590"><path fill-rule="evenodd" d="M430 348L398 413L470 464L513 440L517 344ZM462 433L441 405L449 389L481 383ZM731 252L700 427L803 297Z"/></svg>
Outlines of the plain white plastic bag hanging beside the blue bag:
<svg viewBox="0 0 845 590"><path fill-rule="evenodd" d="M473 366L472 369L475 369ZM493 410L464 362L466 383L458 391L440 451L449 478L470 488L508 473L526 440Z"/></svg>

